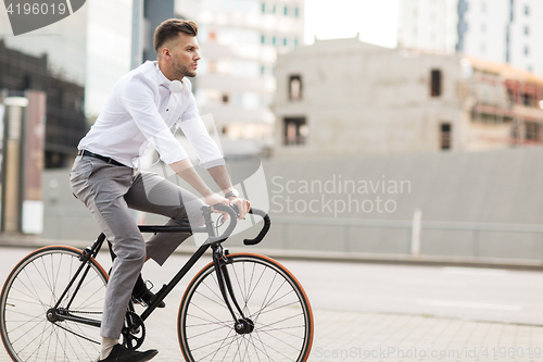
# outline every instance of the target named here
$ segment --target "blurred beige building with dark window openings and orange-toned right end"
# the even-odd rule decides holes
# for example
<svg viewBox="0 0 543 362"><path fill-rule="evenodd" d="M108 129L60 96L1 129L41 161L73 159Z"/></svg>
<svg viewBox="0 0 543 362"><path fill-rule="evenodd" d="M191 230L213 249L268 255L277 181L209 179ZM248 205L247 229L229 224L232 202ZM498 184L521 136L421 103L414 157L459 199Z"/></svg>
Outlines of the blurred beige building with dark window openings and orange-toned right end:
<svg viewBox="0 0 543 362"><path fill-rule="evenodd" d="M543 78L463 58L319 40L277 64L278 158L543 145Z"/></svg>

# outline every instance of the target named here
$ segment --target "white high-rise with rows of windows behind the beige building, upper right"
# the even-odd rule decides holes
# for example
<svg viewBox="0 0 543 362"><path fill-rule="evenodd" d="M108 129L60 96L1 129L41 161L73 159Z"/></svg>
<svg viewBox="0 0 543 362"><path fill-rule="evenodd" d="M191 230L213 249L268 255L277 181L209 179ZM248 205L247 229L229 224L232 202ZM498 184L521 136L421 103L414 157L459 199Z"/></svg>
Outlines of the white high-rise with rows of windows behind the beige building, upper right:
<svg viewBox="0 0 543 362"><path fill-rule="evenodd" d="M399 46L508 63L543 76L543 2L400 0Z"/></svg>

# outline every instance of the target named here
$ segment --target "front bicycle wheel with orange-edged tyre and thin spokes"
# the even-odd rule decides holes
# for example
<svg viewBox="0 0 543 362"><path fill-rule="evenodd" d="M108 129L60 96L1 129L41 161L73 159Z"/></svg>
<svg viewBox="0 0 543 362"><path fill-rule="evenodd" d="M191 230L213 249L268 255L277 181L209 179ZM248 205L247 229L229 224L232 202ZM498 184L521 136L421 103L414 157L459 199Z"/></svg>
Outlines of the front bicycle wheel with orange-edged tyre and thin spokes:
<svg viewBox="0 0 543 362"><path fill-rule="evenodd" d="M296 278L264 255L238 253L227 260L236 299L254 328L236 330L210 263L189 284L179 308L178 337L185 360L306 361L313 313Z"/></svg>

